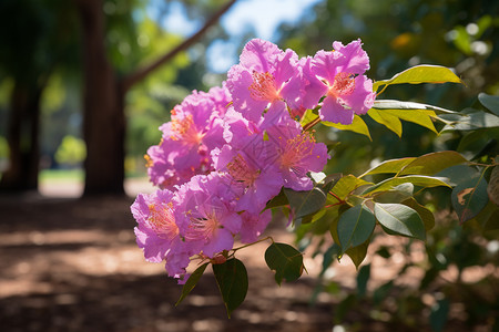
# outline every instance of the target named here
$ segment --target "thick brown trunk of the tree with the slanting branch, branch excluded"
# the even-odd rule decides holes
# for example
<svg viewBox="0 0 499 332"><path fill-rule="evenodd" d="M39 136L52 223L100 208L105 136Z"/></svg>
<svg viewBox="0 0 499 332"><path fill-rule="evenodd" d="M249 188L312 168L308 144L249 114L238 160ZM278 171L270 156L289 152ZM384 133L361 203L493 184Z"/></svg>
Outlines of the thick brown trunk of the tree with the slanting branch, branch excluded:
<svg viewBox="0 0 499 332"><path fill-rule="evenodd" d="M124 92L108 61L101 0L77 1L83 28L84 196L123 195Z"/></svg>

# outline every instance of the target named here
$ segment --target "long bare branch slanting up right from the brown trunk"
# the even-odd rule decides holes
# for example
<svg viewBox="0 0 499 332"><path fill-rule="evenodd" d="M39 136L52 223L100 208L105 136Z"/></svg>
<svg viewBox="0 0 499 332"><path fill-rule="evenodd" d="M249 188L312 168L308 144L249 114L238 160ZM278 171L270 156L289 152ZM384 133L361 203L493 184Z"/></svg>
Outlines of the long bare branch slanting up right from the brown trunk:
<svg viewBox="0 0 499 332"><path fill-rule="evenodd" d="M145 65L143 68L138 69L135 72L126 75L122 80L122 89L123 91L128 91L132 87L133 84L145 79L151 72L163 65L165 62L172 60L180 52L189 49L192 44L194 44L213 24L215 24L218 19L236 2L237 0L231 0L225 6L223 6L213 17L207 20L204 25L189 39L184 40L180 45L164 54L153 63Z"/></svg>

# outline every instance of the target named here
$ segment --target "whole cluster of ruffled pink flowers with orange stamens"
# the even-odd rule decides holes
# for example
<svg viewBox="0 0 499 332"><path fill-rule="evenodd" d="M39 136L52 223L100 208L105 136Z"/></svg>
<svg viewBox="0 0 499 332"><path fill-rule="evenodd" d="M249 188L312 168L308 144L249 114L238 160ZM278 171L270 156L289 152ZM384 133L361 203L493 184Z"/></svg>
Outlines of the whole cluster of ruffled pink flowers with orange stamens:
<svg viewBox="0 0 499 332"><path fill-rule="evenodd" d="M319 106L322 120L350 124L375 98L360 40L333 46L299 59L252 40L222 87L193 92L172 110L146 156L160 189L132 205L149 261L165 261L169 276L185 281L193 257L215 259L236 237L255 241L272 217L266 204L283 187L313 188L307 174L329 156L299 118Z"/></svg>

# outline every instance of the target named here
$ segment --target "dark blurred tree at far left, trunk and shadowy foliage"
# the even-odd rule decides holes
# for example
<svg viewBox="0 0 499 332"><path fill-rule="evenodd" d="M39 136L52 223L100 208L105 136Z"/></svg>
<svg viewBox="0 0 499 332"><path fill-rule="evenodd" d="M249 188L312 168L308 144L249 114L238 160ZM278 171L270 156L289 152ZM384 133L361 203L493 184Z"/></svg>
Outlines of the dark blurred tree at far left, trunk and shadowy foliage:
<svg viewBox="0 0 499 332"><path fill-rule="evenodd" d="M11 80L7 141L9 168L0 188L38 187L40 101L51 74L74 56L74 20L62 0L0 2L0 76Z"/></svg>

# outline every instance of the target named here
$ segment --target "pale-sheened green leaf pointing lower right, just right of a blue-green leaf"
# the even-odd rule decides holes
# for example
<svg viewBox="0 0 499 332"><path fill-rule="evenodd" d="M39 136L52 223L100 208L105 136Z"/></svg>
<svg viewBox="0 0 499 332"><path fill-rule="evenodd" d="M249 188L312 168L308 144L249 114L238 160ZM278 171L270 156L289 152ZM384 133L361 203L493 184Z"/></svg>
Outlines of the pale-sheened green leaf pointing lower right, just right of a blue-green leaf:
<svg viewBox="0 0 499 332"><path fill-rule="evenodd" d="M418 212L401 204L375 204L375 216L379 224L401 236L426 239L425 225Z"/></svg>

